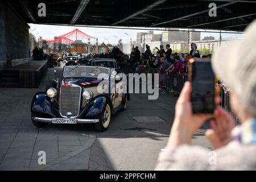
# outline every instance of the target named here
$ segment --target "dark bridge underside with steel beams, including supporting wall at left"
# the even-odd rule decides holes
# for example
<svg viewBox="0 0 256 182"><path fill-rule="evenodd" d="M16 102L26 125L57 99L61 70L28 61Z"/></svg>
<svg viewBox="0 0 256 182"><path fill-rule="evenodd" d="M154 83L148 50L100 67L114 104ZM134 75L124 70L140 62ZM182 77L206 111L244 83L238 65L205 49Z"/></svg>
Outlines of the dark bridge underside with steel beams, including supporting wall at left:
<svg viewBox="0 0 256 182"><path fill-rule="evenodd" d="M27 23L243 31L255 18L256 0L2 0L0 71L31 61Z"/></svg>

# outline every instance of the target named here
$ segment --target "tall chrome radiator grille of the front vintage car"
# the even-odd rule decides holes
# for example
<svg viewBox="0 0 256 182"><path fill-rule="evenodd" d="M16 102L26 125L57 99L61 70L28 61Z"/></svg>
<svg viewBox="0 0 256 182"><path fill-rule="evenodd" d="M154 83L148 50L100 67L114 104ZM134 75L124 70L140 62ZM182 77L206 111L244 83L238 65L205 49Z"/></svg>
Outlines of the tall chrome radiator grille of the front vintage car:
<svg viewBox="0 0 256 182"><path fill-rule="evenodd" d="M60 92L60 114L67 117L67 112L72 117L77 117L80 110L81 88L79 86L62 86Z"/></svg>

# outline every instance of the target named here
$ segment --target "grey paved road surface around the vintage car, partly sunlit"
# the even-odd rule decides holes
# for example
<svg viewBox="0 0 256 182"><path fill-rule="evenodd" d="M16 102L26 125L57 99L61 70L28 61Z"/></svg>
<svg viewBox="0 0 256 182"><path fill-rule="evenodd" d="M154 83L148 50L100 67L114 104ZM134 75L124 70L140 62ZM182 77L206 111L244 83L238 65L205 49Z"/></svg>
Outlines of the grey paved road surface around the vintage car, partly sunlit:
<svg viewBox="0 0 256 182"><path fill-rule="evenodd" d="M54 68L61 75L62 68ZM127 109L113 115L109 130L93 125L32 125L32 96L53 77L48 68L38 89L0 88L0 170L153 170L166 145L176 97L131 94ZM193 144L211 147L204 137L207 123L193 136ZM39 151L46 164L39 165Z"/></svg>

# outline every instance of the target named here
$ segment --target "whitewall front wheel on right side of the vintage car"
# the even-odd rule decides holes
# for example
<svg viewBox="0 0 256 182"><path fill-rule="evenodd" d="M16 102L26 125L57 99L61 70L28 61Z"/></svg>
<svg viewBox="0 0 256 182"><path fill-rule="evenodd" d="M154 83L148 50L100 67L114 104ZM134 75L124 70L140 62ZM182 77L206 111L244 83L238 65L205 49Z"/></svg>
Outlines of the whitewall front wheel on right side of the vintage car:
<svg viewBox="0 0 256 182"><path fill-rule="evenodd" d="M102 113L100 117L100 121L95 123L96 129L100 132L108 130L110 119L111 119L111 109L109 104L107 104L105 111Z"/></svg>

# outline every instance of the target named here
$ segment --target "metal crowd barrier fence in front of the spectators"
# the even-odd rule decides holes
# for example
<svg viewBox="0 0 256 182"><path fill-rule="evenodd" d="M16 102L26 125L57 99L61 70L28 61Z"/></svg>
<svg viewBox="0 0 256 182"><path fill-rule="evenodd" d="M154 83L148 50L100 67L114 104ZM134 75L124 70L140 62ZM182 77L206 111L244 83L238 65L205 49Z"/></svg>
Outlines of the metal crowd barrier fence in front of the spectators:
<svg viewBox="0 0 256 182"><path fill-rule="evenodd" d="M159 73L159 88L164 88L166 90L169 90L171 92L180 93L183 89L185 81L189 80L189 75L182 75L180 73L171 73L171 72L165 72L160 73L159 69L153 69L153 68L142 68L138 73L145 73L146 75L148 73ZM154 76L153 76L154 78ZM154 81L153 81L154 82ZM240 120L236 114L234 114L234 111L230 104L230 96L227 92L225 92L225 88L221 87L220 93L218 93L218 96L221 97L221 103L220 106L222 106L226 111L228 111L230 114L233 115L233 117L236 119L237 125L240 125Z"/></svg>

